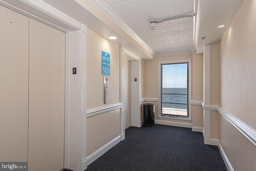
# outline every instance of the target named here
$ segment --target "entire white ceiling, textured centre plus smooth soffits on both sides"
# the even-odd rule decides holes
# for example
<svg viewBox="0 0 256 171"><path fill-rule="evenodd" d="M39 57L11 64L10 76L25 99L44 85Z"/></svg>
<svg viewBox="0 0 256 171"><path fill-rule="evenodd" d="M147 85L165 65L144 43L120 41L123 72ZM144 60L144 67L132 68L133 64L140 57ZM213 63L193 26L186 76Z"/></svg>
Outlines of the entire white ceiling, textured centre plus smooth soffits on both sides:
<svg viewBox="0 0 256 171"><path fill-rule="evenodd" d="M117 40L110 41L126 48L140 58L144 60L153 59L75 0L43 1L88 26L90 30L106 39L112 35L117 36ZM102 10L106 16L155 57L191 53L190 48L192 50L194 48L197 54L202 54L204 45L218 44L244 2L244 0L86 1L90 1ZM196 13L195 17L168 20L160 23L156 30L151 30L148 26L149 22L153 20L193 14L194 12ZM193 18L195 21L193 21ZM226 24L224 28L216 28L218 24L222 23ZM206 38L202 40L202 37Z"/></svg>

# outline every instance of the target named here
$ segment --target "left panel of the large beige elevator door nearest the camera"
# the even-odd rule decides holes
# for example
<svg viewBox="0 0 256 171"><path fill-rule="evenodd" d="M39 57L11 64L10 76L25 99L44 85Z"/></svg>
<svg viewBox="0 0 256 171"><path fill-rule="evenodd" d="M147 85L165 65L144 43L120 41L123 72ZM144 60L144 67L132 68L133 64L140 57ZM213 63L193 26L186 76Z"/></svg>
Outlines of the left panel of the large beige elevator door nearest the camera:
<svg viewBox="0 0 256 171"><path fill-rule="evenodd" d="M0 161L28 159L28 17L0 6Z"/></svg>

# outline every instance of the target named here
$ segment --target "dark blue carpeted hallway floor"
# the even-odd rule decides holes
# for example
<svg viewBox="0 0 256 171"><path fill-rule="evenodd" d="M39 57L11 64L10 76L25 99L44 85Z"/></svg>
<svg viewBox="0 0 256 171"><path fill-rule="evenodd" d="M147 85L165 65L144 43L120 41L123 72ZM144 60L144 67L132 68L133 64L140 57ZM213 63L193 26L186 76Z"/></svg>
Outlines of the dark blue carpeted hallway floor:
<svg viewBox="0 0 256 171"><path fill-rule="evenodd" d="M202 133L156 125L130 127L126 139L85 171L226 171L217 146L205 145Z"/></svg>

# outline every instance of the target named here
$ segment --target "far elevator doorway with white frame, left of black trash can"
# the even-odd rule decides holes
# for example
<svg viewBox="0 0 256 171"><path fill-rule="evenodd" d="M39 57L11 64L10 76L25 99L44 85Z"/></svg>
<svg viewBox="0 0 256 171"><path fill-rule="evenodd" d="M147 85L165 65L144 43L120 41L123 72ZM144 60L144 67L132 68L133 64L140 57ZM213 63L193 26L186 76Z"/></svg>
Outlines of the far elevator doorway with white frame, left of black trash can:
<svg viewBox="0 0 256 171"><path fill-rule="evenodd" d="M122 65L122 135L130 126L140 127L140 57L120 48ZM122 138L125 139L125 138Z"/></svg>

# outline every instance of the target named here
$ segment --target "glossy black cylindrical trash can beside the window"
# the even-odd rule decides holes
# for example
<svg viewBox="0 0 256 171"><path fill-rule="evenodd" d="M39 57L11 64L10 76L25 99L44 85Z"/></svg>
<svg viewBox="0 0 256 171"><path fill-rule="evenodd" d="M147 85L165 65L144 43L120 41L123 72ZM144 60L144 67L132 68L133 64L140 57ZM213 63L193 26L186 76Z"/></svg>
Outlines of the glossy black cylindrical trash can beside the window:
<svg viewBox="0 0 256 171"><path fill-rule="evenodd" d="M145 127L155 126L155 105L154 104L143 104L143 120Z"/></svg>

